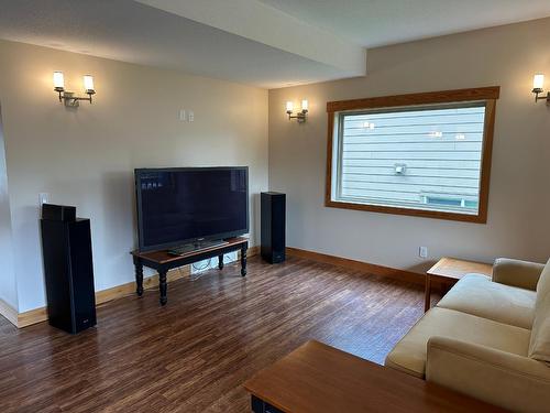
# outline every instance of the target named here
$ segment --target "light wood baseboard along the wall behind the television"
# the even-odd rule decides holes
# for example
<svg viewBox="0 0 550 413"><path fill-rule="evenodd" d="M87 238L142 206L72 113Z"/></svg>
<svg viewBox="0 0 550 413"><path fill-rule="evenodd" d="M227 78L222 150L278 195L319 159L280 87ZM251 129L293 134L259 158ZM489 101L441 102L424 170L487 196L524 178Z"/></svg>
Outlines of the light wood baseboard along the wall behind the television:
<svg viewBox="0 0 550 413"><path fill-rule="evenodd" d="M260 247L251 247L246 251L246 257L253 257L256 256L260 251ZM172 271L168 271L167 275L167 282L170 283L173 281L183 279L184 276L187 276L190 274L190 265L185 265L179 269L175 269ZM143 289L144 290L150 290L158 286L158 274L154 274L151 276L147 276L143 279ZM125 284L117 285L113 286L112 289L107 289L107 290L101 290L96 293L96 306L99 306L101 304L108 303L112 300L117 298L122 298L129 295L135 294L135 282L129 282ZM2 308L2 301L0 300L0 314L3 314L3 308ZM4 303L8 305L7 303ZM11 307L10 307L11 308ZM13 309L13 308L12 308ZM14 326L18 328L23 328L31 326L33 324L42 323L47 320L47 309L46 307L40 307L35 309L31 309L24 313L19 313L13 309L14 313L12 313L10 319L8 316L4 315L6 318L8 318Z"/></svg>

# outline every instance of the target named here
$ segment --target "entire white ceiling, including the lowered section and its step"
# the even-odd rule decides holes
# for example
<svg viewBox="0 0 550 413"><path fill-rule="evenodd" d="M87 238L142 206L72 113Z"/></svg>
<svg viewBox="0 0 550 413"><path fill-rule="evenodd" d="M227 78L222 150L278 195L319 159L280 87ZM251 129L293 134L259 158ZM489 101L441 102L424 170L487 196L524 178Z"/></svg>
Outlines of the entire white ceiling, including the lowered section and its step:
<svg viewBox="0 0 550 413"><path fill-rule="evenodd" d="M550 15L550 0L0 0L0 39L274 88L364 47Z"/></svg>

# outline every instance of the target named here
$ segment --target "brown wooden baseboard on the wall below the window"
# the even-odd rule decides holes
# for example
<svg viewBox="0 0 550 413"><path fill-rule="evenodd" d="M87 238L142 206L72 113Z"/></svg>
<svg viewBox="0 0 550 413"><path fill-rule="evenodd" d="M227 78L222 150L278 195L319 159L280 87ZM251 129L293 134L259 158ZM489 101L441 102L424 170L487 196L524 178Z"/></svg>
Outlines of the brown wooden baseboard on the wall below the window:
<svg viewBox="0 0 550 413"><path fill-rule="evenodd" d="M405 281L413 284L425 285L426 278L425 274L420 274L413 271L398 270L391 267L384 267L378 264L372 264L369 262L351 260L349 258L342 258L337 256L329 256L326 253L302 250L299 248L287 247L286 253L288 256L305 258L311 261L323 262L326 264L332 264L338 267L343 267L350 270L356 270L366 272L369 274L386 276L394 280Z"/></svg>

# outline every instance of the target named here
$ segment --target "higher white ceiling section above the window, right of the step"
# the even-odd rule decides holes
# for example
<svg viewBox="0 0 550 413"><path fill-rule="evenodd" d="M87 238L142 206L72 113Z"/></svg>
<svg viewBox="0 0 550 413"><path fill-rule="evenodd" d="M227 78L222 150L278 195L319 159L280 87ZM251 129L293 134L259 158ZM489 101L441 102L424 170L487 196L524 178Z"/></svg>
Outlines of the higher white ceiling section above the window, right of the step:
<svg viewBox="0 0 550 413"><path fill-rule="evenodd" d="M363 47L550 15L550 0L258 0Z"/></svg>

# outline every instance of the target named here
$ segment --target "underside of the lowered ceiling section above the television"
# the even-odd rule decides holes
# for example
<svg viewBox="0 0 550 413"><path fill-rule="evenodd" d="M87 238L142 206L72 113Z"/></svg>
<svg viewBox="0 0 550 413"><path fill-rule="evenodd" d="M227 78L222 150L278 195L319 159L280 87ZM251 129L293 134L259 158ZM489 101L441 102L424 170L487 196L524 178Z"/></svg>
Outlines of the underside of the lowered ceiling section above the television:
<svg viewBox="0 0 550 413"><path fill-rule="evenodd" d="M0 0L0 39L263 88L361 74L132 0Z"/></svg>

